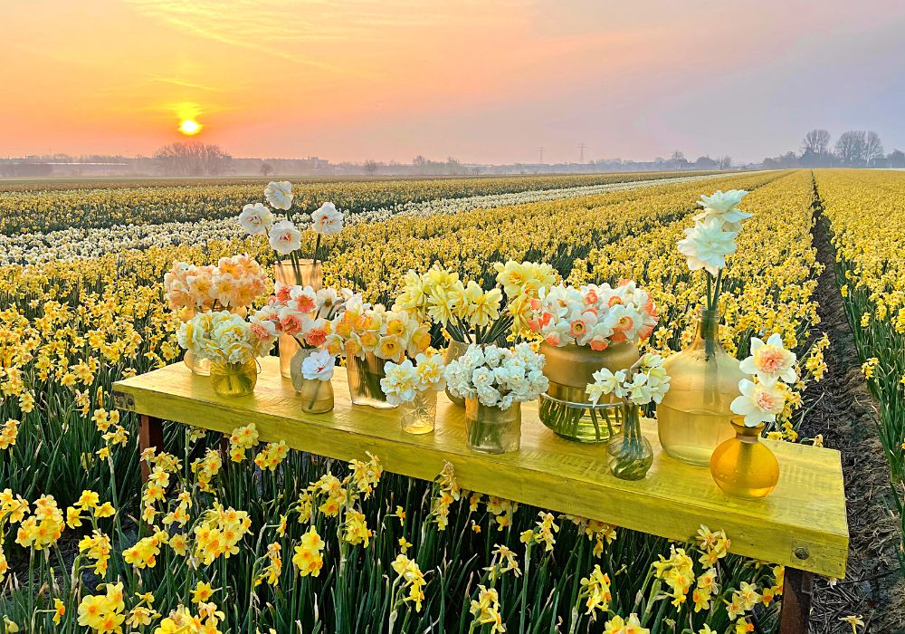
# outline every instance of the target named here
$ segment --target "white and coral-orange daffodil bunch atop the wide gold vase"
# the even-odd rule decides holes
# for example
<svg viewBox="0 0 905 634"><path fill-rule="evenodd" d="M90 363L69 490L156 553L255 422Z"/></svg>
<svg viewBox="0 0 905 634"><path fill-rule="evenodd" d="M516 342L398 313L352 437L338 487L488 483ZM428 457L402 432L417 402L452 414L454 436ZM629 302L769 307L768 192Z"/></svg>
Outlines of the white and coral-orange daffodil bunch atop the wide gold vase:
<svg viewBox="0 0 905 634"><path fill-rule="evenodd" d="M611 343L638 343L651 336L658 315L651 296L634 282L581 288L558 284L541 289L532 301L531 331L549 345L589 346L602 351Z"/></svg>

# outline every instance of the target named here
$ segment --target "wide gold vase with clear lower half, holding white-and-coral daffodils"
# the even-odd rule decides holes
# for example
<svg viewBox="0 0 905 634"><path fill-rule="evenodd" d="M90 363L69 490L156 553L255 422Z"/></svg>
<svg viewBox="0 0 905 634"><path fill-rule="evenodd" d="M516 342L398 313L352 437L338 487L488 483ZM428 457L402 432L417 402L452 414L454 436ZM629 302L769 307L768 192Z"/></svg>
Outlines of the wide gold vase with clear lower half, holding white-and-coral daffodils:
<svg viewBox="0 0 905 634"><path fill-rule="evenodd" d="M603 351L569 344L558 348L540 344L547 359L544 376L549 379L546 394L540 396L541 422L567 440L604 442L622 425L622 407L617 399L605 398L592 405L585 389L601 368L612 372L628 370L641 354L633 343L616 343Z"/></svg>

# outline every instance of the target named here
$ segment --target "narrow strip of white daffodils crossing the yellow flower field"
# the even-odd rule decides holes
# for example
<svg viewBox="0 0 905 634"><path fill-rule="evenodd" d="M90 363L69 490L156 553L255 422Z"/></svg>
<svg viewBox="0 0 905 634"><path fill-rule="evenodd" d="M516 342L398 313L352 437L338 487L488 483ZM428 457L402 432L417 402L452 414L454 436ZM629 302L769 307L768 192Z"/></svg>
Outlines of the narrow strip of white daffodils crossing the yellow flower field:
<svg viewBox="0 0 905 634"><path fill-rule="evenodd" d="M670 182L681 183L700 178L710 177L677 177L671 178ZM652 187L659 184L662 184L662 178L577 187L531 189L515 193L408 201L395 205L395 207L381 207L376 210L348 214L347 224L385 222L393 216L424 217L449 215L460 211L591 196L608 191ZM300 226L304 227L303 224ZM120 251L143 251L151 247L166 247L170 245L203 246L210 240L229 240L239 234L239 225L233 217L156 224L130 222L128 225L116 227L73 226L49 232L0 234L0 264L71 262Z"/></svg>

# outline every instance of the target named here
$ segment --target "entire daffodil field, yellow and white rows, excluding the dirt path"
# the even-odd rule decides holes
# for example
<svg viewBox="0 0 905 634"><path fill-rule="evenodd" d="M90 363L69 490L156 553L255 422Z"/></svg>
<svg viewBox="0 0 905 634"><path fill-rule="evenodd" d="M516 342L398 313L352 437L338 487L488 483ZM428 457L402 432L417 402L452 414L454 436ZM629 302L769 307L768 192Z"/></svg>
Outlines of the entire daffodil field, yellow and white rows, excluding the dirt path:
<svg viewBox="0 0 905 634"><path fill-rule="evenodd" d="M691 341L708 292L675 244L702 192L747 189L719 339L741 359L752 336L781 335L798 379L767 433L820 445L801 433L830 345L814 296L816 182L905 500L905 174L669 176L324 182L300 196L362 216L329 241L327 285L391 304L410 269L441 264L489 285L491 263L509 259L575 284L631 278L660 308L647 345L667 354ZM384 472L379 455L347 465L263 445L253 420L227 438L168 424L165 446L139 457L138 421L110 386L181 359L162 283L174 261L273 264L265 238L222 226L260 190L0 192L0 634L776 630L783 568L729 554L716 525L670 543L464 491L454 464L431 483ZM505 196L517 198L461 203ZM864 223L876 209L882 222ZM185 236L117 235L167 223ZM106 235L91 244L109 241L100 251L67 246L91 230Z"/></svg>

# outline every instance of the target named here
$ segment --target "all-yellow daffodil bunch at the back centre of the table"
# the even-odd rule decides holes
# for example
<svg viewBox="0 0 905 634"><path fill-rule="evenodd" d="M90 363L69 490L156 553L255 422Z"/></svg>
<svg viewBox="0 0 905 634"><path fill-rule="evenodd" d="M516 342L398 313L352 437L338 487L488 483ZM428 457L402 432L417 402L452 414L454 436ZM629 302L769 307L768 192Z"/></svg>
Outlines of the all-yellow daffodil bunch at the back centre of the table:
<svg viewBox="0 0 905 634"><path fill-rule="evenodd" d="M556 274L549 264L532 262L510 260L493 267L497 285L488 291L440 266L425 274L409 271L393 308L442 325L452 341L500 341L512 331L525 330L532 300L538 298L542 288L556 282Z"/></svg>

